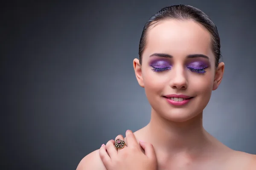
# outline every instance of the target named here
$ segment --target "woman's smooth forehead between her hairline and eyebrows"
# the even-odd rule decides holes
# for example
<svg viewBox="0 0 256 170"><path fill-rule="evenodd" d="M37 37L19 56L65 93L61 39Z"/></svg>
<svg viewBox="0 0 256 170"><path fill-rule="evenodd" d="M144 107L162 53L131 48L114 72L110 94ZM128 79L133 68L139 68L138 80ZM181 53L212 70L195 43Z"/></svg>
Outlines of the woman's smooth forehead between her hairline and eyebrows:
<svg viewBox="0 0 256 170"><path fill-rule="evenodd" d="M147 32L144 54L167 53L174 57L188 54L212 54L211 35L195 21L163 20Z"/></svg>

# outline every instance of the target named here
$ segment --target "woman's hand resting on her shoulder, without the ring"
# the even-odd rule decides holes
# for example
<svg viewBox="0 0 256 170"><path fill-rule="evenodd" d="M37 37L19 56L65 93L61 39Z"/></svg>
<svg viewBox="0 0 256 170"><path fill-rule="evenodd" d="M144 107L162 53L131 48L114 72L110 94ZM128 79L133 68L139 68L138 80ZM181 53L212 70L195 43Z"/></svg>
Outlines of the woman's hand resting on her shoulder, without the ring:
<svg viewBox="0 0 256 170"><path fill-rule="evenodd" d="M116 139L123 139L122 135ZM99 155L107 170L156 170L157 158L152 144L140 141L139 144L131 130L126 131L127 146L116 149L115 141L102 144ZM145 150L142 152L141 147Z"/></svg>

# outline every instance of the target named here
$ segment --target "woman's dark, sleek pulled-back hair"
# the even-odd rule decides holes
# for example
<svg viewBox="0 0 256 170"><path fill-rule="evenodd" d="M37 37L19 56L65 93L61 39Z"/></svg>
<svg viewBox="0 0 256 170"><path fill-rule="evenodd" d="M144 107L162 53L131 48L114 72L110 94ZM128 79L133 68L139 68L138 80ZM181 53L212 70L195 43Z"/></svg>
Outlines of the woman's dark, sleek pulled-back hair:
<svg viewBox="0 0 256 170"><path fill-rule="evenodd" d="M192 20L204 26L212 35L212 51L215 54L215 66L218 67L219 59L221 58L221 44L217 27L207 16L207 14L198 8L189 5L174 5L162 8L159 12L154 14L148 20L148 22L145 23L139 45L140 64L142 64L142 54L146 45L146 35L148 28L154 23L166 19Z"/></svg>

